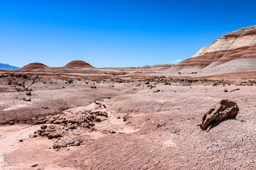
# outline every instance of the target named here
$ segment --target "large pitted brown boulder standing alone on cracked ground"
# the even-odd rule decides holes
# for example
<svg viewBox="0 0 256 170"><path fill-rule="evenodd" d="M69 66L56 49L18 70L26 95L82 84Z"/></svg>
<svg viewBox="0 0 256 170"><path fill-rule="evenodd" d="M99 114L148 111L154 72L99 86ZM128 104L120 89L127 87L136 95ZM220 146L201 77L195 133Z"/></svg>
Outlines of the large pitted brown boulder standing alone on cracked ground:
<svg viewBox="0 0 256 170"><path fill-rule="evenodd" d="M235 119L238 115L238 104L234 101L221 100L215 104L210 110L203 115L203 123L200 126L202 130L207 130L213 123L220 122L226 118Z"/></svg>

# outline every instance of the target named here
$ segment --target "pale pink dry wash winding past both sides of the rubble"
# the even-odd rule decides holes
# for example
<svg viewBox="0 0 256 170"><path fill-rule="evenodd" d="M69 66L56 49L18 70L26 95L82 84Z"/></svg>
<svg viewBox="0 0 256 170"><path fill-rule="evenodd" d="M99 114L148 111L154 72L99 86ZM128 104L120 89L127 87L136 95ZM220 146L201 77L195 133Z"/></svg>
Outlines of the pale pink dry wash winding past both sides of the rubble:
<svg viewBox="0 0 256 170"><path fill-rule="evenodd" d="M92 137L92 139L97 140L100 137L105 137L109 133L134 133L139 131L138 129L134 129L132 125L129 125L129 123L124 122L123 118L120 117L120 114L116 114L113 111L109 110L109 106L107 106L106 101L108 99L102 99L102 100L96 100L93 103L90 103L88 106L79 106L76 108L70 108L66 111L63 111L63 115L65 114L76 114L81 112L106 112L107 118L103 119L100 123L95 123L95 129L97 131L95 132L88 132L88 131L82 131L81 132L84 135L87 135L88 137ZM36 132L38 129L40 129L41 125L5 125L0 127L0 169L3 170L11 170L11 169L33 169L31 165L33 164L39 164L38 167L43 167L45 170L72 170L68 167L61 167L53 163L53 160L50 160L51 158L43 158L36 159L33 158L33 160L25 160L21 161L18 160L18 162L13 162L13 164L9 164L9 162L5 162L6 156L14 153L18 153L21 155L29 155L29 157L33 157L33 154L36 154L36 152L44 152L45 153L54 153L54 155L58 155L63 150L60 150L60 153L57 152L55 149L48 149L50 146L53 145L54 140L48 140L46 137L35 137L31 138L28 137L30 134L33 134L33 132ZM80 131L79 129L75 132ZM22 140L20 142L19 140ZM47 147L48 146L48 147ZM76 149L77 147L67 147L66 149ZM47 150L48 149L48 150ZM32 154L31 154L32 152ZM18 157L17 154L17 157ZM31 155L30 155L31 154ZM65 152L65 154L68 154L68 152ZM56 156L55 155L55 156ZM10 158L10 157L8 157ZM17 159L13 157L12 159ZM33 163L31 163L31 161ZM27 167L27 168L24 168Z"/></svg>

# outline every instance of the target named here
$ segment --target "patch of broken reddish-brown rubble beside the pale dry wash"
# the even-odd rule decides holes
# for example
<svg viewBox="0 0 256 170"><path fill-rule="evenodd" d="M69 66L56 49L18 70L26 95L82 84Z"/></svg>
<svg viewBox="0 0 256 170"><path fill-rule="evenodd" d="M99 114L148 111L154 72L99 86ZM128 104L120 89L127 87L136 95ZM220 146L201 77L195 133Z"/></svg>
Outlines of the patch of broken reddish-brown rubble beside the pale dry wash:
<svg viewBox="0 0 256 170"><path fill-rule="evenodd" d="M41 125L41 129L37 130L38 135L48 137L49 140L58 139L54 142L53 149L79 146L82 138L79 138L78 134L82 134L86 130L90 132L96 130L95 123L100 123L103 118L108 118L106 111L99 110L106 108L104 102L96 100L92 105L95 105L95 108L88 107L87 110L76 113L65 111L62 114L48 115L43 120L38 120L36 124L48 123L48 125Z"/></svg>

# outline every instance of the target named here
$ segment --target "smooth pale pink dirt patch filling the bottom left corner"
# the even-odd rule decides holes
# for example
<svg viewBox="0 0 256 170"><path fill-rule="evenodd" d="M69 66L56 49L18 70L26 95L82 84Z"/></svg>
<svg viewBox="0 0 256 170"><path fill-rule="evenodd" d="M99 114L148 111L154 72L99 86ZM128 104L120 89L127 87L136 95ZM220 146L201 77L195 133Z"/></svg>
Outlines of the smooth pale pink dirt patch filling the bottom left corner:
<svg viewBox="0 0 256 170"><path fill-rule="evenodd" d="M29 134L33 134L41 125L13 125L13 126L1 126L0 127L0 169L1 170L13 170L13 169L34 169L33 165L40 168L43 167L45 170L75 170L70 169L68 167L60 167L56 164L52 164L52 161L49 158L45 157L44 162L40 162L36 157L33 159L26 159L24 162L20 162L20 160L14 158L16 160L15 164L8 164L9 162L5 162L5 155L11 154L12 152L18 152L18 157L26 157L26 155L32 152L35 154L37 150L46 150L47 145L51 145L50 140L46 140L43 138L30 138ZM19 142L19 140L23 140L23 142ZM23 148L25 147L25 148ZM48 151L52 152L52 151ZM50 153L48 153L50 154ZM55 153L58 154L58 153ZM20 159L22 159L20 157ZM40 163L39 163L40 162Z"/></svg>

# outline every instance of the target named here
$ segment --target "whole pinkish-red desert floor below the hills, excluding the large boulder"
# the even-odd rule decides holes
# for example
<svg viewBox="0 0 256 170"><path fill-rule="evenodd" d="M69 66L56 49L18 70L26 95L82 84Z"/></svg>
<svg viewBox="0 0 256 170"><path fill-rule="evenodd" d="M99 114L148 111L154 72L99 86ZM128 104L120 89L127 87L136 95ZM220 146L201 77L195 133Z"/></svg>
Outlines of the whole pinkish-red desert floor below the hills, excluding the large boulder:
<svg viewBox="0 0 256 170"><path fill-rule="evenodd" d="M1 71L0 169L256 169L255 74L166 69ZM237 117L201 130L222 99Z"/></svg>

